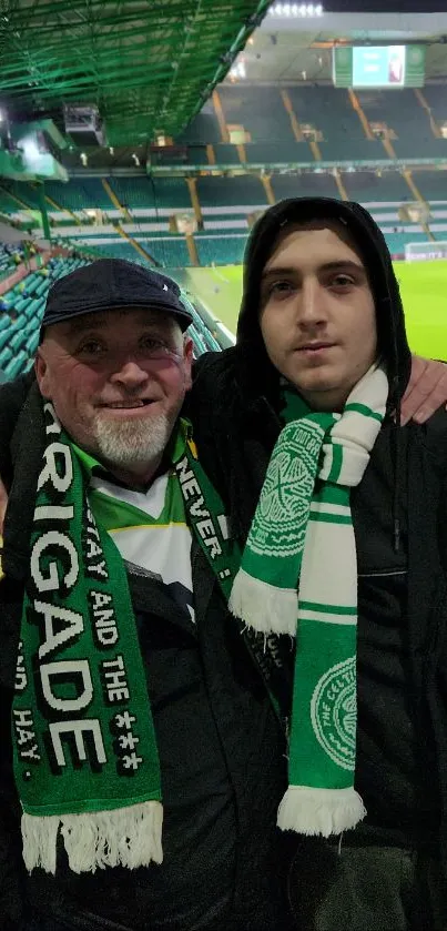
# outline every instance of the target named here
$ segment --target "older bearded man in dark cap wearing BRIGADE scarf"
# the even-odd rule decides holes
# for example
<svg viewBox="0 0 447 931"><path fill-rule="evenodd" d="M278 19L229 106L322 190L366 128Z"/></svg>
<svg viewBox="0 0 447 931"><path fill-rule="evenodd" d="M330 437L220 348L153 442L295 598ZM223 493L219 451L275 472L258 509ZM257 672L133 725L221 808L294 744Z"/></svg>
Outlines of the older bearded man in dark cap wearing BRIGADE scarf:
<svg viewBox="0 0 447 931"><path fill-rule="evenodd" d="M48 297L0 585L2 931L287 927L284 731L181 417L189 324L115 260Z"/></svg>

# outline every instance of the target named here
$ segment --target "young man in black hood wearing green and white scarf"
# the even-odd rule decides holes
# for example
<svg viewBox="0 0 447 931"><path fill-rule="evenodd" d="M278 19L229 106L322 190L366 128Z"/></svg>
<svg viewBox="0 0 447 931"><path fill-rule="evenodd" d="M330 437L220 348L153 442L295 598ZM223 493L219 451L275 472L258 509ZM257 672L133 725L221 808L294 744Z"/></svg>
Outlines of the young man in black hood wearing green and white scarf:
<svg viewBox="0 0 447 931"><path fill-rule="evenodd" d="M369 214L267 211L237 346L199 361L191 405L243 549L231 607L296 640L278 824L301 929L447 927L447 415L399 426L409 372Z"/></svg>

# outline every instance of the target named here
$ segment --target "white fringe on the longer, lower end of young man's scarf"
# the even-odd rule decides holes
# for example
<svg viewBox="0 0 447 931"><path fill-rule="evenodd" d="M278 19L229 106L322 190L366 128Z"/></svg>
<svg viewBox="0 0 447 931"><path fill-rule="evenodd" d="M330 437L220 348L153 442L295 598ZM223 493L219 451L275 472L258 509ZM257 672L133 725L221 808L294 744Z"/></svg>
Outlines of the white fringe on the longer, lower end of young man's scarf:
<svg viewBox="0 0 447 931"><path fill-rule="evenodd" d="M327 838L355 828L365 814L366 808L354 788L291 786L280 804L277 824L283 831Z"/></svg>

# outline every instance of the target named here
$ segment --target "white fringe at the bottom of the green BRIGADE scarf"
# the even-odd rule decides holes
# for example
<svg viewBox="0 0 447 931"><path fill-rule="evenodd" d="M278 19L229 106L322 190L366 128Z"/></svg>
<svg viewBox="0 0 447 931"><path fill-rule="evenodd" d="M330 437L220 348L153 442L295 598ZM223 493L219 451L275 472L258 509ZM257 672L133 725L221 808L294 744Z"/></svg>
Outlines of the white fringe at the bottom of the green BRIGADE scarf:
<svg viewBox="0 0 447 931"><path fill-rule="evenodd" d="M22 814L23 860L27 870L41 867L55 873L59 829L70 869L94 873L105 867L135 870L162 863L163 806L159 801L89 811L82 814Z"/></svg>

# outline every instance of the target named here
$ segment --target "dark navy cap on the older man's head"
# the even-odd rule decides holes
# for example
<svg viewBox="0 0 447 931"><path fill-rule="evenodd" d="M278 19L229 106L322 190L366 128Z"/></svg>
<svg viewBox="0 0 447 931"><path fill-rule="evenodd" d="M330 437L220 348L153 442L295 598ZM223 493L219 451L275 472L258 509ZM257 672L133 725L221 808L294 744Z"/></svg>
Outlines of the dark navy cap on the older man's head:
<svg viewBox="0 0 447 931"><path fill-rule="evenodd" d="M176 317L182 331L192 322L179 285L166 275L124 259L100 259L59 279L50 289L41 324L47 326L96 311L146 307Z"/></svg>

